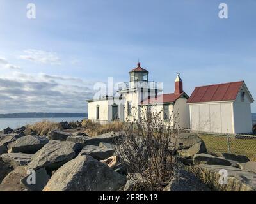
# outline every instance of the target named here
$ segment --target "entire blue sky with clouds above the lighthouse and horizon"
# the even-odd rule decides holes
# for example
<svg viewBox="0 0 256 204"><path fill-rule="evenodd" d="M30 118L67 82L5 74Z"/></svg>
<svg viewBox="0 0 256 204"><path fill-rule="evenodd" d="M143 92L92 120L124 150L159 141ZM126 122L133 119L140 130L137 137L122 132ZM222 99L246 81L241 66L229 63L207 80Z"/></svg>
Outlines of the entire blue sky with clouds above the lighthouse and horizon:
<svg viewBox="0 0 256 204"><path fill-rule="evenodd" d="M129 81L138 59L164 93L180 73L188 95L244 80L256 98L255 10L255 0L0 0L0 113L86 113L95 83Z"/></svg>

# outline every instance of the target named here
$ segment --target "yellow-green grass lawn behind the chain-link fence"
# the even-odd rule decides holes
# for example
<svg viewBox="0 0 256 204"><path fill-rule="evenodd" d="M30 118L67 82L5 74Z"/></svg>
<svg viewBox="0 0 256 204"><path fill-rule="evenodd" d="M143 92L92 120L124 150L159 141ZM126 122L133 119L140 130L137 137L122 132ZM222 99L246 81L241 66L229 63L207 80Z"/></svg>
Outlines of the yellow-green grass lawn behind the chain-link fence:
<svg viewBox="0 0 256 204"><path fill-rule="evenodd" d="M200 135L200 138L204 140L208 152L228 152L227 137ZM256 161L256 138L237 139L230 137L229 141L230 153L246 155L251 161Z"/></svg>

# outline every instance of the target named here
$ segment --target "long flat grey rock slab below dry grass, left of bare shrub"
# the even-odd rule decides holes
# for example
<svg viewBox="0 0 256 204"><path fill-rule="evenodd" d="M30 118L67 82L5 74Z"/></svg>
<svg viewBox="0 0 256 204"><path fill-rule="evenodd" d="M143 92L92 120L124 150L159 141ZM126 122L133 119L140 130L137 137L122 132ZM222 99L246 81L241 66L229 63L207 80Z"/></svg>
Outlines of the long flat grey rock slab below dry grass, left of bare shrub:
<svg viewBox="0 0 256 204"><path fill-rule="evenodd" d="M103 135L93 136L91 138L88 138L84 145L96 145L98 146L100 142L106 142L106 143L116 143L120 138L124 136L122 133L106 133Z"/></svg>

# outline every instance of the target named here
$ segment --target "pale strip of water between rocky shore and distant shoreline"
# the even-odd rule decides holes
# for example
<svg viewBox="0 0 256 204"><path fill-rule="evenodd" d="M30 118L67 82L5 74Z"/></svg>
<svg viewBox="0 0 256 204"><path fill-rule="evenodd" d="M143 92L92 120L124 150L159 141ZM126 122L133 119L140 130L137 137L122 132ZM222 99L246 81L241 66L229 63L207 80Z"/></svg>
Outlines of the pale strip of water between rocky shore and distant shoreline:
<svg viewBox="0 0 256 204"><path fill-rule="evenodd" d="M27 124L34 124L36 122L42 122L43 120L49 120L52 122L72 122L72 121L81 121L84 118L81 117L51 117L51 118L17 118L17 119L0 119L0 130L10 127L12 129L20 128L21 126L26 126Z"/></svg>

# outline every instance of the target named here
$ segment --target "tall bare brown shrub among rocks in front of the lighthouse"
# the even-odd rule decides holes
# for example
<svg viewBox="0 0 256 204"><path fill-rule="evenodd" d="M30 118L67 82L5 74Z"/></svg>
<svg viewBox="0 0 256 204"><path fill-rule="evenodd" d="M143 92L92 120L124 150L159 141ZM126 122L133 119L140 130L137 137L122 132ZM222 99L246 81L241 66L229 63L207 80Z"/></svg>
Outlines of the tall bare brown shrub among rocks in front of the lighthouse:
<svg viewBox="0 0 256 204"><path fill-rule="evenodd" d="M133 190L161 191L173 177L175 164L168 162L172 154L168 144L176 124L172 119L163 122L161 112L147 110L140 115L125 126L122 145L116 152L136 184Z"/></svg>

